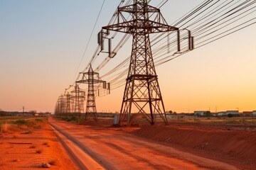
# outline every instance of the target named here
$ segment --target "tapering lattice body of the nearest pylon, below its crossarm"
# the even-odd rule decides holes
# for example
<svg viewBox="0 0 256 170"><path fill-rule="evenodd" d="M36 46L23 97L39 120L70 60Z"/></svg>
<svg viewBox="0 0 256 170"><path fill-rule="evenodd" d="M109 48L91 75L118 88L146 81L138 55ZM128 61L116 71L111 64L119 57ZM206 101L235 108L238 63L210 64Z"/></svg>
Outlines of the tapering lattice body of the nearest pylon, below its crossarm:
<svg viewBox="0 0 256 170"><path fill-rule="evenodd" d="M151 125L154 125L156 113L159 113L164 122L167 123L151 53L149 34L134 33L132 56L124 89L119 124L127 120L129 125L134 118L142 114Z"/></svg>

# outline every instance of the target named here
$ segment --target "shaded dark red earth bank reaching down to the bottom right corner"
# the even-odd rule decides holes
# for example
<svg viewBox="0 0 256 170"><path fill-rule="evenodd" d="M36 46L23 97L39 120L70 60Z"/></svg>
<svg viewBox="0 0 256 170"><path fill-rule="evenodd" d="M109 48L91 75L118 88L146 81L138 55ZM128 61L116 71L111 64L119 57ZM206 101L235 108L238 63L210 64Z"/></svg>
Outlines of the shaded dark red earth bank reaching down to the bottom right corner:
<svg viewBox="0 0 256 170"><path fill-rule="evenodd" d="M132 134L208 159L256 169L256 127L171 123L144 126Z"/></svg>

